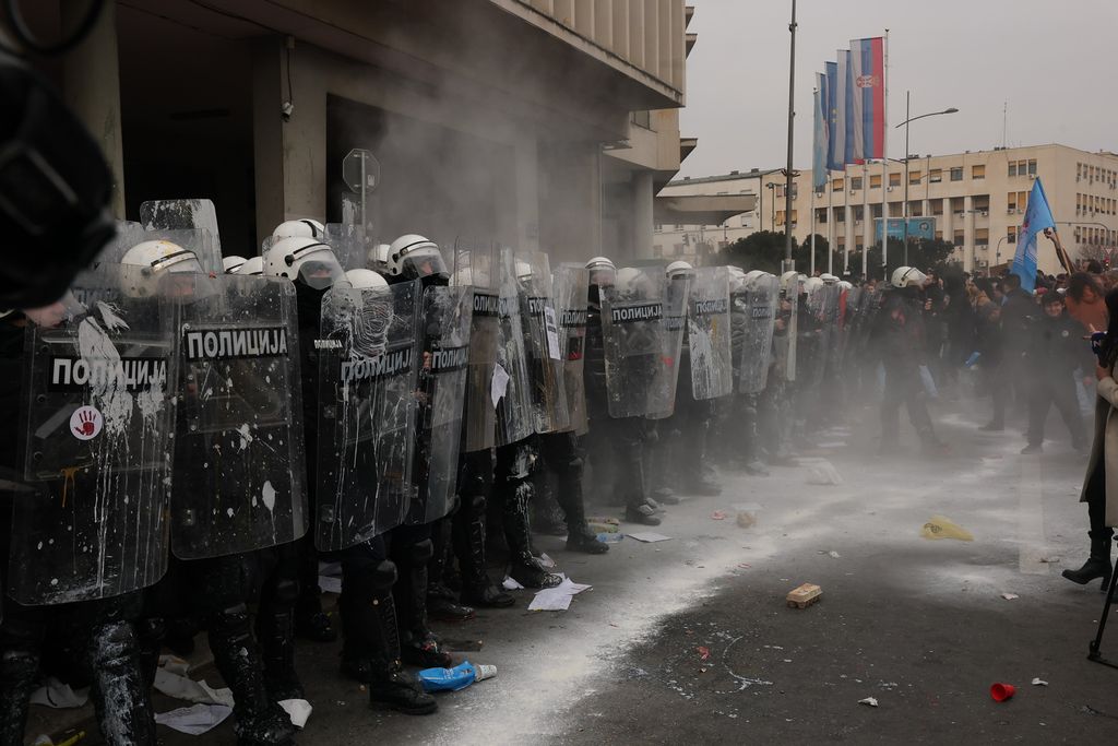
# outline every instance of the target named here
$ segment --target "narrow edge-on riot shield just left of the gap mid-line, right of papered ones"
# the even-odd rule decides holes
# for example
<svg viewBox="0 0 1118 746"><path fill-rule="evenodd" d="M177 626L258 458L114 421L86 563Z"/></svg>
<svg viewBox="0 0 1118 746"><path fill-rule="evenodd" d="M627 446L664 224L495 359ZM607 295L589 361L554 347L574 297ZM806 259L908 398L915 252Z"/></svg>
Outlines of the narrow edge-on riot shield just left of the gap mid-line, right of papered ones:
<svg viewBox="0 0 1118 746"><path fill-rule="evenodd" d="M563 360L563 389L570 413L570 429L582 435L589 428L586 412L586 308L590 273L581 264L563 263L551 274L559 342Z"/></svg>

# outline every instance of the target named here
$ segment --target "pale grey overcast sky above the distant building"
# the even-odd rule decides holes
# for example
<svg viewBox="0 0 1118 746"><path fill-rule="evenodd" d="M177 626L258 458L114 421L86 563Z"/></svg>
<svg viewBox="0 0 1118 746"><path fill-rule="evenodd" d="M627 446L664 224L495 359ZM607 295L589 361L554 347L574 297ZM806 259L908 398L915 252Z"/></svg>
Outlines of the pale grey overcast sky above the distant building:
<svg viewBox="0 0 1118 746"><path fill-rule="evenodd" d="M784 166L792 0L690 0L681 134L699 138L680 176ZM1118 150L1115 40L1118 0L799 0L796 34L797 168L811 166L812 88L850 39L889 29L889 122L949 106L911 125L913 153L988 150L1007 141ZM890 126L889 155L903 130Z"/></svg>

